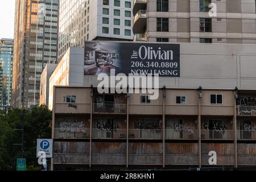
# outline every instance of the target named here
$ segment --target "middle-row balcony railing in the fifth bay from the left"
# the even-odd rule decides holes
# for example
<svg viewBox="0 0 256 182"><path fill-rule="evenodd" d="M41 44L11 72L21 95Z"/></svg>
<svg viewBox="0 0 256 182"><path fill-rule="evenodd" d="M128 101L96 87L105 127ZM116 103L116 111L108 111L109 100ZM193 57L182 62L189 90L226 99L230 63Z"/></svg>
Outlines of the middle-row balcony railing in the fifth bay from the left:
<svg viewBox="0 0 256 182"><path fill-rule="evenodd" d="M201 130L202 140L233 140L234 130Z"/></svg>

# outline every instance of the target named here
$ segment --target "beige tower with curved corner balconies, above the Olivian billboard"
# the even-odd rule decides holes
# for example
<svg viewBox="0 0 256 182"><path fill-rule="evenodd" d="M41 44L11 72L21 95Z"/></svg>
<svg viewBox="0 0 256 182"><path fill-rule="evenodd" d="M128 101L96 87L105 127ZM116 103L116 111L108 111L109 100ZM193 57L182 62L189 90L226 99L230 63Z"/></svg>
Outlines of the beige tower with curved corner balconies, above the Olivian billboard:
<svg viewBox="0 0 256 182"><path fill-rule="evenodd" d="M209 4L217 16L209 16ZM135 41L256 43L255 0L135 0Z"/></svg>

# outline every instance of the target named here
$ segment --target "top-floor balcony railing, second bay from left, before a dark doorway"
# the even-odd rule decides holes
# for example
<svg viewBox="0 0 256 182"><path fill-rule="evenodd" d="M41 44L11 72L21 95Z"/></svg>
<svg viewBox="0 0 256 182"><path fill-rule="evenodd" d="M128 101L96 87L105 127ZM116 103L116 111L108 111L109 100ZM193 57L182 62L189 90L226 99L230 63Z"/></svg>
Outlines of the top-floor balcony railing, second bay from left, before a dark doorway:
<svg viewBox="0 0 256 182"><path fill-rule="evenodd" d="M126 104L93 104L93 113L126 114Z"/></svg>

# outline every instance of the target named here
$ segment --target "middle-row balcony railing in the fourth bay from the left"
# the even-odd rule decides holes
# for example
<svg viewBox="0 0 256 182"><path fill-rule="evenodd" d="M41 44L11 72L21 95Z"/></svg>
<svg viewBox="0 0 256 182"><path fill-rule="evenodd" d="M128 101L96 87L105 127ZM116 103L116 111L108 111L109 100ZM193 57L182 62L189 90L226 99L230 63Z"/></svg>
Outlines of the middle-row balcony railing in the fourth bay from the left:
<svg viewBox="0 0 256 182"><path fill-rule="evenodd" d="M199 130L166 130L166 139L199 139Z"/></svg>

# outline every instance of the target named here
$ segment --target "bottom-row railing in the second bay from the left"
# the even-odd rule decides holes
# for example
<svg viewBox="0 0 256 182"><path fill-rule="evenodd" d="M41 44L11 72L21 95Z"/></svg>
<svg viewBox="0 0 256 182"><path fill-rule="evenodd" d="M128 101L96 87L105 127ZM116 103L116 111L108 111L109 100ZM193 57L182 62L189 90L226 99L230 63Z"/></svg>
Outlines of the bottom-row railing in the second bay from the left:
<svg viewBox="0 0 256 182"><path fill-rule="evenodd" d="M92 164L125 165L126 155L123 154L92 154Z"/></svg>

